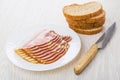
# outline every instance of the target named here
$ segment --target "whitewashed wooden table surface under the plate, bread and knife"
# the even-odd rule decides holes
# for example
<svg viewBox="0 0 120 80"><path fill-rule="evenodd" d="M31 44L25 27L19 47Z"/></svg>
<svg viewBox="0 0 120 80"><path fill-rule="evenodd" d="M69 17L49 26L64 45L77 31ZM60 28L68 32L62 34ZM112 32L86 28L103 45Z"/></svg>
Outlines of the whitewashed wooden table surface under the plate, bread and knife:
<svg viewBox="0 0 120 80"><path fill-rule="evenodd" d="M114 36L100 50L91 64L79 76L73 72L76 62L102 34L81 35L82 48L69 64L51 71L32 72L13 65L7 58L4 45L11 32L37 24L67 26L62 7L90 0L0 0L0 80L120 80L120 1L99 0L106 11L104 31L116 21ZM74 53L73 53L74 54Z"/></svg>

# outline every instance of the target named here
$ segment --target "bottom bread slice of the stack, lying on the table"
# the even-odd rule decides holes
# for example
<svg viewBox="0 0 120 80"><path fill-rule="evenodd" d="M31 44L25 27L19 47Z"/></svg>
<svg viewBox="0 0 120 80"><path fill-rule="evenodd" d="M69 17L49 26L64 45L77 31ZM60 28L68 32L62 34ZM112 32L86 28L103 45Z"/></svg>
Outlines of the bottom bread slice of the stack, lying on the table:
<svg viewBox="0 0 120 80"><path fill-rule="evenodd" d="M97 34L103 30L102 26L93 29L80 29L71 25L69 25L69 27L79 34L87 34L87 35Z"/></svg>

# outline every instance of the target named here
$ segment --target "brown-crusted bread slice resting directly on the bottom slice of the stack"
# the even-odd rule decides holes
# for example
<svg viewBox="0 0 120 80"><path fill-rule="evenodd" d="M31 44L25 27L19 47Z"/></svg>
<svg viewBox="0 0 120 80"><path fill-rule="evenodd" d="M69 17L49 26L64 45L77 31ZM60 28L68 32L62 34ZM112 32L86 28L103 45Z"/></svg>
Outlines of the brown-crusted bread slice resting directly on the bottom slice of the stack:
<svg viewBox="0 0 120 80"><path fill-rule="evenodd" d="M75 26L80 29L92 29L102 26L105 23L105 18L101 19L99 22L94 22L94 23L83 23L81 21L73 21L73 20L67 20L67 22L69 25Z"/></svg>

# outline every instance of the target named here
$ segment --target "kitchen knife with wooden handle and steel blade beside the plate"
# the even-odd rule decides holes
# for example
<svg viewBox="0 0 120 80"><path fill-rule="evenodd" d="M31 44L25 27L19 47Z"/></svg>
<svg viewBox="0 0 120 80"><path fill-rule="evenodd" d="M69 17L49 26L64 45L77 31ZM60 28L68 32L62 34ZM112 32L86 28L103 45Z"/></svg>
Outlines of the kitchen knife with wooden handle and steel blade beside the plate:
<svg viewBox="0 0 120 80"><path fill-rule="evenodd" d="M108 41L110 40L114 30L116 23L114 22L108 30L97 40L95 44L93 44L90 49L86 52L86 54L78 61L78 63L74 66L75 74L81 73L87 65L91 62L91 60L95 57L98 50L103 49Z"/></svg>

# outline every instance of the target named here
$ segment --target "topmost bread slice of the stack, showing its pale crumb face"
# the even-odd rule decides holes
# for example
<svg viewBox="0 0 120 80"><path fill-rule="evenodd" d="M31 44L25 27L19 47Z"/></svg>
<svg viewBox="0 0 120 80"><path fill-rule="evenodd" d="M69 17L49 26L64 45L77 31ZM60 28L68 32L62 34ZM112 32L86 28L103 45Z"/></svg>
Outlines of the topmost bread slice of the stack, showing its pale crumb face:
<svg viewBox="0 0 120 80"><path fill-rule="evenodd" d="M100 15L102 13L102 5L93 1L82 5L74 4L63 8L63 14L66 18L72 20L83 20Z"/></svg>

